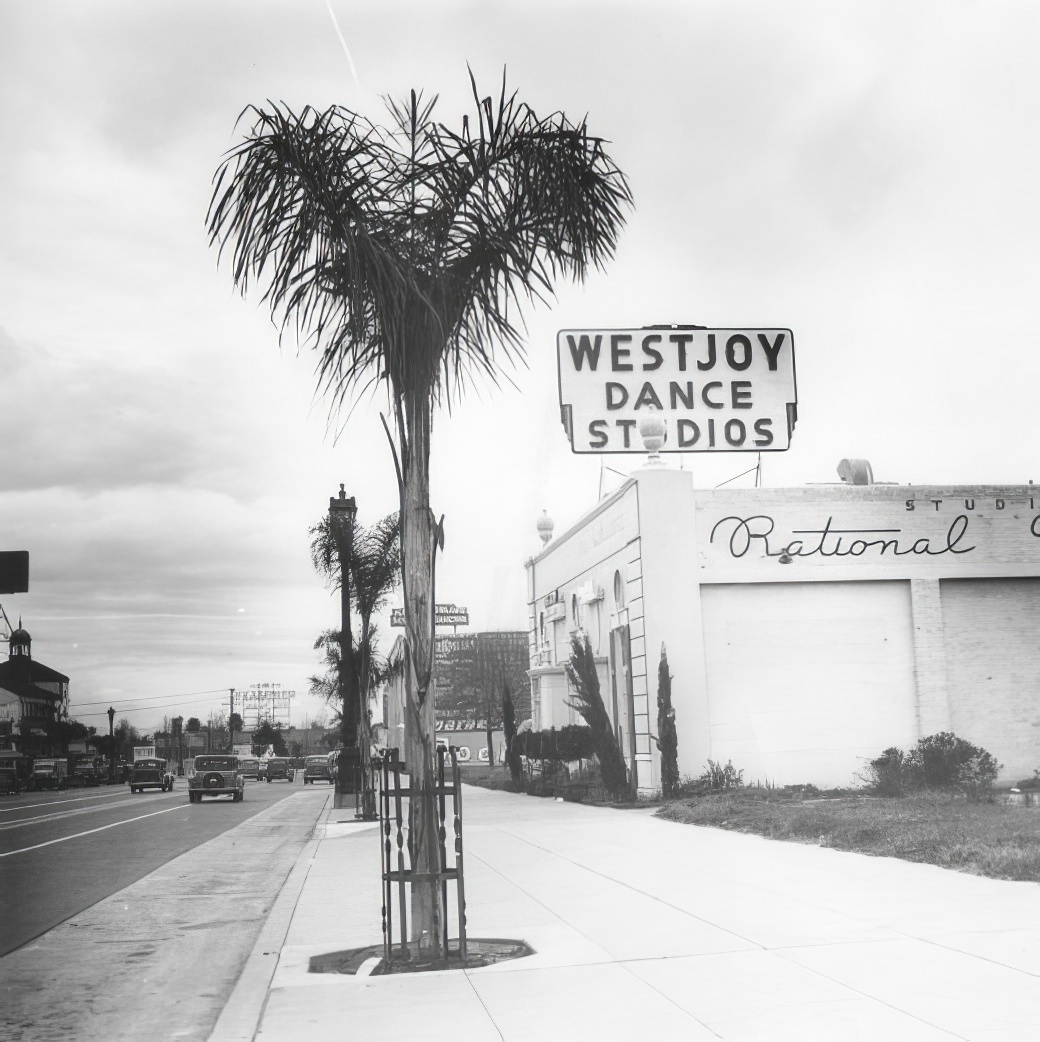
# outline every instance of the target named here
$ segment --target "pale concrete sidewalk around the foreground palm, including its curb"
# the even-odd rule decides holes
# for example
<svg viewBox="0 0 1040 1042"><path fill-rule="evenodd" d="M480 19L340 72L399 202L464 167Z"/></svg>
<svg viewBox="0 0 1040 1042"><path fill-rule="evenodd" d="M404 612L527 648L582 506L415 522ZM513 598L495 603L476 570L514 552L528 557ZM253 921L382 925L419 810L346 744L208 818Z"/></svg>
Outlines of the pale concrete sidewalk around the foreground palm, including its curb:
<svg viewBox="0 0 1040 1042"><path fill-rule="evenodd" d="M381 942L378 829L329 807L211 1042L1040 1039L1040 887L464 791L482 969L309 973ZM452 932L454 933L454 932Z"/></svg>

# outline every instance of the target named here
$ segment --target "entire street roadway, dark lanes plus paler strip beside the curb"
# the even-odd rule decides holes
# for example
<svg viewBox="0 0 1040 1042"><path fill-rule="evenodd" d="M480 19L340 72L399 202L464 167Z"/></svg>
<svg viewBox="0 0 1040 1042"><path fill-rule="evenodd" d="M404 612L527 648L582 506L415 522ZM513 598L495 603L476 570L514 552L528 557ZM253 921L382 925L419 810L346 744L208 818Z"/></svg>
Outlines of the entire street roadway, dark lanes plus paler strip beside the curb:
<svg viewBox="0 0 1040 1042"><path fill-rule="evenodd" d="M0 1039L204 1042L332 795L247 782L242 803L189 803L178 779L0 801L0 936L59 920L0 958Z"/></svg>

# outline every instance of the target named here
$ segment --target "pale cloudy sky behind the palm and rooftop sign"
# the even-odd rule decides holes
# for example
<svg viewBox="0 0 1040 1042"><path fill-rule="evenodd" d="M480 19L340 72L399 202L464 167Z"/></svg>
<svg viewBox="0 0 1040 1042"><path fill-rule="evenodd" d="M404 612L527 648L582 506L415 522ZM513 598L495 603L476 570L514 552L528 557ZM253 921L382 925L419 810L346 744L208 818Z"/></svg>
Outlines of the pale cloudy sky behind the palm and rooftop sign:
<svg viewBox="0 0 1040 1042"><path fill-rule="evenodd" d="M438 419L438 600L471 628L523 628L538 516L562 531L639 463L571 454L561 328L791 328L771 487L845 456L1040 480L1038 49L1032 0L4 0L0 549L31 577L0 604L102 729L109 704L149 730L263 683L321 713L338 598L308 528L341 482L365 523L396 508L386 402L330 423L314 359L218 267L212 177L267 99L381 121L416 88L457 126L467 64L587 115L635 196L609 270L528 311L512 386ZM682 465L712 487L754 463Z"/></svg>

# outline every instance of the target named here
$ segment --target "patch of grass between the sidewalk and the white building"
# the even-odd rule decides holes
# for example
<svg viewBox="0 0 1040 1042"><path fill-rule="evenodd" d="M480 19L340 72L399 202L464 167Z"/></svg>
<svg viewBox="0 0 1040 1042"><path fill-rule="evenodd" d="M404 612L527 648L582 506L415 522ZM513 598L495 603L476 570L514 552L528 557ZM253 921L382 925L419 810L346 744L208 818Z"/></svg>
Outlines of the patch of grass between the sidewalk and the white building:
<svg viewBox="0 0 1040 1042"><path fill-rule="evenodd" d="M736 788L667 802L659 814L691 825L1040 883L1040 808L1010 805L996 797L804 798Z"/></svg>

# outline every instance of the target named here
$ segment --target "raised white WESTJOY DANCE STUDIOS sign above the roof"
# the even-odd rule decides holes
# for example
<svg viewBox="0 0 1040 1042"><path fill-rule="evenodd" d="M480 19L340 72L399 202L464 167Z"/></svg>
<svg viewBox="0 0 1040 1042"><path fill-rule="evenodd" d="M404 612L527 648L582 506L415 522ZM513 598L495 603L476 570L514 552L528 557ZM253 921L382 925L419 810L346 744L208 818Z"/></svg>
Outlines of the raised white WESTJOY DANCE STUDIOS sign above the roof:
<svg viewBox="0 0 1040 1042"><path fill-rule="evenodd" d="M645 452L639 425L664 418L661 452L775 452L797 417L790 329L562 329L560 407L574 452Z"/></svg>

